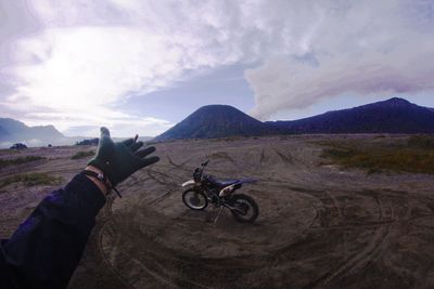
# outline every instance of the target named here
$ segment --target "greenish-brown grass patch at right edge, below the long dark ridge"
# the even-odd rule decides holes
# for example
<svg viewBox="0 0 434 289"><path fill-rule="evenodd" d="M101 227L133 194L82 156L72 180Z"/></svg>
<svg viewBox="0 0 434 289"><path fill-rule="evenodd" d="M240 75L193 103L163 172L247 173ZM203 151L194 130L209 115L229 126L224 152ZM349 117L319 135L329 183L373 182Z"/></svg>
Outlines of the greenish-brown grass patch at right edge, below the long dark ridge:
<svg viewBox="0 0 434 289"><path fill-rule="evenodd" d="M411 136L404 144L329 142L327 146L322 157L343 168L434 174L432 136Z"/></svg>

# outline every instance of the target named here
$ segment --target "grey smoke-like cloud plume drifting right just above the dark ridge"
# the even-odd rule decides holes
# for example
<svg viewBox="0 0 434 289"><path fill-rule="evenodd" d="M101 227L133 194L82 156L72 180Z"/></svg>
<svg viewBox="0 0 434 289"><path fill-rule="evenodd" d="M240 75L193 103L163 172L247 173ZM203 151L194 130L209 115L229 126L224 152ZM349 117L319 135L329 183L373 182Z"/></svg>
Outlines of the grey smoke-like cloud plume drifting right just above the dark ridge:
<svg viewBox="0 0 434 289"><path fill-rule="evenodd" d="M312 65L299 60L276 57L247 70L246 78L255 92L253 114L268 119L281 109L303 109L321 100L350 95L414 94L434 89L434 42L401 44L387 53L371 52L339 58L318 56Z"/></svg>

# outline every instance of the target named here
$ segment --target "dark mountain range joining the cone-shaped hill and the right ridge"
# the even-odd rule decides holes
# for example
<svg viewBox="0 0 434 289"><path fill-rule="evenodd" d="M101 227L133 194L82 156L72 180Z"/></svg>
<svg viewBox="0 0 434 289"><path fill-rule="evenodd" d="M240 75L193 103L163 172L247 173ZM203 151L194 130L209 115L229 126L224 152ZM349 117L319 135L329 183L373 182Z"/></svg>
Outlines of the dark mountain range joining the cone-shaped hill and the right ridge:
<svg viewBox="0 0 434 289"><path fill-rule="evenodd" d="M298 120L260 122L229 105L207 105L154 141L294 133L434 133L434 109L393 97Z"/></svg>

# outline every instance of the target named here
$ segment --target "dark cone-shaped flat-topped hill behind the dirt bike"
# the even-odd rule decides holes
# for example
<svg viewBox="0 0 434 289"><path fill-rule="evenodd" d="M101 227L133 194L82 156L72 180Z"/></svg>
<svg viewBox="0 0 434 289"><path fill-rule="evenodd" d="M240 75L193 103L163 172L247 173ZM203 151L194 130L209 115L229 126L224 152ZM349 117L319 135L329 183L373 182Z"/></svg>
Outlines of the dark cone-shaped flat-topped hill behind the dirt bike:
<svg viewBox="0 0 434 289"><path fill-rule="evenodd" d="M199 108L154 141L180 139L213 139L266 135L276 129L229 105L207 105Z"/></svg>

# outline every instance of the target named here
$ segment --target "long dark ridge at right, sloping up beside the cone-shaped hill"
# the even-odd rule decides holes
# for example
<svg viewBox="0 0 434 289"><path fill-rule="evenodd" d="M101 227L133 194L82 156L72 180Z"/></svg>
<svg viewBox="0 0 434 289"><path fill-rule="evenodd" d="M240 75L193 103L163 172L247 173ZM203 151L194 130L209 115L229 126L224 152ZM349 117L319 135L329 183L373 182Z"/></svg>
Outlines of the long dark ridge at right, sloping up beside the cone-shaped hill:
<svg viewBox="0 0 434 289"><path fill-rule="evenodd" d="M280 133L434 133L434 109L393 97L299 120L266 123Z"/></svg>

